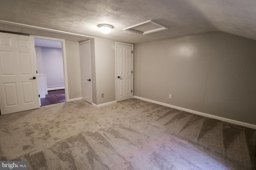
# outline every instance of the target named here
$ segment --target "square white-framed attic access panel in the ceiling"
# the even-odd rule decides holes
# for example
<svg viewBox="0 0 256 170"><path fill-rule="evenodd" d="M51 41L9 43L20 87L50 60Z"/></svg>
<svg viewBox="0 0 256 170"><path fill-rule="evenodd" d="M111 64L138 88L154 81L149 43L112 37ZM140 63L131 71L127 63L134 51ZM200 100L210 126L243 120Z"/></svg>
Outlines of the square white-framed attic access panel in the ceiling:
<svg viewBox="0 0 256 170"><path fill-rule="evenodd" d="M168 28L166 28L152 20L149 20L149 21L142 22L137 25L133 25L131 27L125 28L123 30L138 33L141 35L145 35L145 34L154 33L157 31L162 31L165 29L168 29Z"/></svg>

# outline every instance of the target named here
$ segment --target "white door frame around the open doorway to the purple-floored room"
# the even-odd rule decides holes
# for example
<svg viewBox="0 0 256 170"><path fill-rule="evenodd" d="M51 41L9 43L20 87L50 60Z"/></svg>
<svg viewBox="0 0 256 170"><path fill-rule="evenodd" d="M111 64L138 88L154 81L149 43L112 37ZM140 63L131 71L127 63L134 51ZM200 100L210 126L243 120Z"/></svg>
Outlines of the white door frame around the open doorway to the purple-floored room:
<svg viewBox="0 0 256 170"><path fill-rule="evenodd" d="M67 59L66 59L66 45L64 39L50 38L50 37L41 37L37 35L30 35L31 37L37 39L46 39L52 41L61 41L62 42L62 59L63 59L63 70L64 70L64 82L65 82L65 98L66 102L70 102L68 94L68 72L67 72Z"/></svg>

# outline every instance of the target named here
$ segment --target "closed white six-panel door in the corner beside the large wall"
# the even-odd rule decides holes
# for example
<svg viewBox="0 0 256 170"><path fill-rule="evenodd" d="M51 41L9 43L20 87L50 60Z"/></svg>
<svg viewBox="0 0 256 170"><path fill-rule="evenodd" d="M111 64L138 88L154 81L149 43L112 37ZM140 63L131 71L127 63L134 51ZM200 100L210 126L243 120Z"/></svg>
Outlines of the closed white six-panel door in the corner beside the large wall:
<svg viewBox="0 0 256 170"><path fill-rule="evenodd" d="M117 101L132 98L132 45L116 44Z"/></svg>

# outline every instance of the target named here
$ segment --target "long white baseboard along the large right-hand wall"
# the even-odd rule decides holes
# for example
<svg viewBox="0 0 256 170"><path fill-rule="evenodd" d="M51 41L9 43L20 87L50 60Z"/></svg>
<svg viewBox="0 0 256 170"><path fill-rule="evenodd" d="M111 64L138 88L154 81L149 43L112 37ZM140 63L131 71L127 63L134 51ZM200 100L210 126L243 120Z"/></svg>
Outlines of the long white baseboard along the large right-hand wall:
<svg viewBox="0 0 256 170"><path fill-rule="evenodd" d="M210 114L207 114L207 113L202 113L202 112L199 112L199 111L190 110L190 109L186 109L186 108L183 108L183 107L173 106L173 105L170 105L170 104L157 102L157 101L154 101L154 100L141 98L141 97L138 97L138 96L133 96L133 98L144 100L146 102L151 102L151 103L154 103L154 104L159 104L159 105L166 106L166 107L171 107L171 108L182 110L182 111L186 111L186 112L189 112L189 113L194 113L196 115L201 115L201 116L204 116L204 117L209 117L209 118L212 118L212 119L217 119L217 120L225 121L225 122L228 122L228 123L233 123L233 124L236 124L236 125L256 129L256 125L252 125L252 124L249 124L249 123L244 123L244 122L241 122L241 121L236 121L236 120L227 119L227 118L224 118L224 117L210 115Z"/></svg>

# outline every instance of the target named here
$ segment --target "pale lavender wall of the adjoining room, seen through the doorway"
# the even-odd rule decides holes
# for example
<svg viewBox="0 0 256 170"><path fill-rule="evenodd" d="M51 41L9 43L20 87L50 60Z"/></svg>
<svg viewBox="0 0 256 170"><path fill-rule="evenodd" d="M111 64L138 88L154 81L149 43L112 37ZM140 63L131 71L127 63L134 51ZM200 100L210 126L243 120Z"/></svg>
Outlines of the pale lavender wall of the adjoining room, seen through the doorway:
<svg viewBox="0 0 256 170"><path fill-rule="evenodd" d="M65 86L62 49L36 47L38 73L46 74L47 87Z"/></svg>

